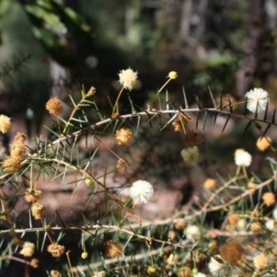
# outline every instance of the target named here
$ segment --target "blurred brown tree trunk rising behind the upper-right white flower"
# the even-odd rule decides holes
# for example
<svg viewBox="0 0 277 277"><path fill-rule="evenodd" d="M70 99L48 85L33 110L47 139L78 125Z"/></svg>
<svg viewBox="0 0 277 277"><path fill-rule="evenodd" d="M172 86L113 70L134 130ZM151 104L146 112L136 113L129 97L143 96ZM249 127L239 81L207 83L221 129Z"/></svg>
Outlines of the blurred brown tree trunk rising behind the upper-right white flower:
<svg viewBox="0 0 277 277"><path fill-rule="evenodd" d="M244 61L236 76L236 96L242 100L251 89L253 76L258 69L260 46L265 34L265 0L253 0L249 3L249 28L247 45L244 49Z"/></svg>

